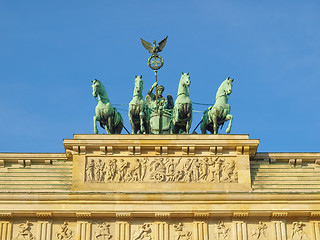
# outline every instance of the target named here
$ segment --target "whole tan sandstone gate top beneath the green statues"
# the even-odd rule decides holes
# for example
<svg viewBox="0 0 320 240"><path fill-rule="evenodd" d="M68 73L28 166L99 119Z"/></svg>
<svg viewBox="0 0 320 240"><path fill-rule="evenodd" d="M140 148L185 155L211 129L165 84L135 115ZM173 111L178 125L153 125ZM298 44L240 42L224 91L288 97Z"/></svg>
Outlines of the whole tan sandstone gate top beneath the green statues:
<svg viewBox="0 0 320 240"><path fill-rule="evenodd" d="M248 135L75 135L0 153L0 239L319 240L320 153Z"/></svg>

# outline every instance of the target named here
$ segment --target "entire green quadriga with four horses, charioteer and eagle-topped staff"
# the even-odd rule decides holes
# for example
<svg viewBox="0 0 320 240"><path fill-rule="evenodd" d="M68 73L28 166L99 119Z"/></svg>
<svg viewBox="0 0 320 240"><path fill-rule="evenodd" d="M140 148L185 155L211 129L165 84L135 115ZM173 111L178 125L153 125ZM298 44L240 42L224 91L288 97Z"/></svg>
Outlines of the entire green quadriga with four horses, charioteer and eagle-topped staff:
<svg viewBox="0 0 320 240"><path fill-rule="evenodd" d="M167 98L163 96L164 86L159 85L157 81L157 71L163 66L163 59L159 52L165 47L167 39L168 37L164 38L158 45L156 41L153 41L152 45L141 38L142 45L151 53L148 65L154 70L155 83L143 101L142 76L135 77L133 98L129 103L128 112L132 134L189 134L193 111L189 97L191 83L189 73L181 75L177 99L174 104L171 95L168 95ZM216 94L215 104L203 113L201 122L197 125L198 127L201 124L200 128L203 134L206 134L207 131L217 134L219 127L222 128L224 122L228 120L230 122L226 132L230 133L233 117L230 114L228 96L232 92L232 82L233 79L228 77L221 84ZM94 132L98 133L96 126L96 121L98 121L102 128L106 128L107 133L120 133L124 127L121 114L111 105L102 83L99 80L92 83L93 95L99 96L94 117ZM153 93L154 89L155 94ZM126 128L125 130L128 132Z"/></svg>

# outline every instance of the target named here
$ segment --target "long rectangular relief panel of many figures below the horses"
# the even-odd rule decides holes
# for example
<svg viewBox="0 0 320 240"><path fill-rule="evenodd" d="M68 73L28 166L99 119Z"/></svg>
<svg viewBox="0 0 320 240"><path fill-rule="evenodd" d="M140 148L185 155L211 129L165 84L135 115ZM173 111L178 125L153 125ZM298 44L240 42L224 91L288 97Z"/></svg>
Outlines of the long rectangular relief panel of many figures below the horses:
<svg viewBox="0 0 320 240"><path fill-rule="evenodd" d="M201 158L103 158L89 157L87 183L130 182L238 182L236 162L221 157Z"/></svg>

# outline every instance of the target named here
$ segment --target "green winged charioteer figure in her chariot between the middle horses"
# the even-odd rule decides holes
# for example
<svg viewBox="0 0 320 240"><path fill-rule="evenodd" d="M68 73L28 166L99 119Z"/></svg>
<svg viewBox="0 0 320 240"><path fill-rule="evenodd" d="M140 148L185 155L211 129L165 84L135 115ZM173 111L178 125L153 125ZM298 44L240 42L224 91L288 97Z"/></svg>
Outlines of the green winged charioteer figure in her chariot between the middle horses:
<svg viewBox="0 0 320 240"><path fill-rule="evenodd" d="M154 88L156 88L156 94L152 93ZM167 98L163 97L163 91L164 87L155 82L145 98L150 111L150 133L152 134L172 133L173 99L171 95Z"/></svg>

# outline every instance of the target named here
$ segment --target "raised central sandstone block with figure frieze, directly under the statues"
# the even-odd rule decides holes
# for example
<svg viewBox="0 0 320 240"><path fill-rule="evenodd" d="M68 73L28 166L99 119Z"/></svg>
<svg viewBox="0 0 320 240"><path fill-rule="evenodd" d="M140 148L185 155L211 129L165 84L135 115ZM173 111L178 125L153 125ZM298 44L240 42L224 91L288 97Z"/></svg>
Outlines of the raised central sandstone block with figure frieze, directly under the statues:
<svg viewBox="0 0 320 240"><path fill-rule="evenodd" d="M75 135L73 191L250 191L247 135Z"/></svg>

